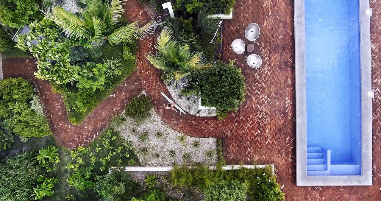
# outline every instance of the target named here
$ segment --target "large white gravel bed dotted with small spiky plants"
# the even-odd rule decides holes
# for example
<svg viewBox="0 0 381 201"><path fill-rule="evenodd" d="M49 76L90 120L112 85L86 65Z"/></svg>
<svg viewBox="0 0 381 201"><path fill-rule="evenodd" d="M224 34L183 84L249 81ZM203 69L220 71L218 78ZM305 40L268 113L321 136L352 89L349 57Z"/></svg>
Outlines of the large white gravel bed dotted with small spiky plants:
<svg viewBox="0 0 381 201"><path fill-rule="evenodd" d="M181 133L176 132L166 125L155 113L154 109L152 109L150 113L151 117L147 118L140 126L134 124L132 119L127 118L125 124L116 128L116 130L122 133L126 141L132 142L133 149L142 166L172 166L174 163L179 165L191 165L194 162L202 162L205 165L216 164L216 154L214 154L211 159L205 154L209 150L216 150L215 138L195 138L186 136L185 145L182 145L179 139L176 138L181 136ZM136 129L136 133L133 133L131 129ZM158 138L155 135L157 130L163 133L161 138ZM139 135L145 131L149 134L147 142L139 142ZM192 146L194 141L200 142L200 147L198 149ZM142 147L147 148L147 155L137 153L137 150ZM174 158L169 156L171 150L176 153ZM188 162L184 162L184 159L182 158L185 152L191 155L191 159ZM157 154L159 156L158 158L156 157Z"/></svg>

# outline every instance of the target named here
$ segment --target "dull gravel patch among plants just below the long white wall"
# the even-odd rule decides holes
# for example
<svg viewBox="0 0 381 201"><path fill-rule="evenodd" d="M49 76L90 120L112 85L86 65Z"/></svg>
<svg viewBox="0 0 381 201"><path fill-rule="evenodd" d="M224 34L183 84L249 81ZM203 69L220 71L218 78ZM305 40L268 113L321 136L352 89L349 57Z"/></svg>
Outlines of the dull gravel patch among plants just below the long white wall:
<svg viewBox="0 0 381 201"><path fill-rule="evenodd" d="M131 175L131 178L138 182L140 186L147 187L146 182L144 182L144 179L146 179L146 175L156 175L157 179L157 188L161 188L167 199L178 199L182 201L202 201L204 198L204 194L202 191L198 190L195 187L191 188L178 188L174 187L169 181L168 178L171 177L170 172L165 171L156 171L156 172L129 172ZM164 176L164 179L163 177Z"/></svg>

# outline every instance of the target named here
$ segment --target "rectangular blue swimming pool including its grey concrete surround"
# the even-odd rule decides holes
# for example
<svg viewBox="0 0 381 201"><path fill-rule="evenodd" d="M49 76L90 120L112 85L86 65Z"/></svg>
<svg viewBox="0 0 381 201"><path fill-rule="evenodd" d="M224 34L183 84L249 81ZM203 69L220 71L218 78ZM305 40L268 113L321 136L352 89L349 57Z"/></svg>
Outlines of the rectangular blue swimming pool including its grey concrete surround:
<svg viewBox="0 0 381 201"><path fill-rule="evenodd" d="M370 15L369 0L295 0L298 185L371 185Z"/></svg>

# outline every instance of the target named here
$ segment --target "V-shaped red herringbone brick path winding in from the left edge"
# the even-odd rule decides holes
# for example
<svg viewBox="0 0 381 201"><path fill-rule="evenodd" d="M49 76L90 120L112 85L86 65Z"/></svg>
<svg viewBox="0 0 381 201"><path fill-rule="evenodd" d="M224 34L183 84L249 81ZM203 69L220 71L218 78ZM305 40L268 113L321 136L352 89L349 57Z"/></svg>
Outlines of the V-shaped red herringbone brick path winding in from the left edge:
<svg viewBox="0 0 381 201"><path fill-rule="evenodd" d="M4 78L24 77L35 85L54 136L67 148L76 148L94 140L110 124L111 118L142 92L138 72L134 71L81 125L75 126L67 118L61 95L53 93L48 81L35 78L33 75L35 70L34 59L3 59Z"/></svg>

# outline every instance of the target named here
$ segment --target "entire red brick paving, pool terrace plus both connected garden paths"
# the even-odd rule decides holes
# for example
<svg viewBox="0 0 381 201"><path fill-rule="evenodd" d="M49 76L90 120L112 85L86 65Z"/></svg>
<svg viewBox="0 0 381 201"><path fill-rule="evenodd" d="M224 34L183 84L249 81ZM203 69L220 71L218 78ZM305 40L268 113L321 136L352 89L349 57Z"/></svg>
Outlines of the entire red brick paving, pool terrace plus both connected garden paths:
<svg viewBox="0 0 381 201"><path fill-rule="evenodd" d="M5 77L21 76L33 81L37 86L54 135L65 146L76 147L86 144L104 129L110 117L121 111L131 97L141 90L152 98L155 111L173 129L195 137L220 137L224 140L226 161L237 164L274 164L279 183L286 194L286 200L379 200L381 193L381 1L373 0L372 67L373 89L373 186L372 187L298 187L296 186L295 163L295 69L293 48L293 2L290 0L237 0L233 19L223 23L223 58L237 59L247 84L246 101L239 111L229 114L223 121L215 117L180 116L163 110L166 93L160 80L160 72L145 59L147 53L154 52L155 36L138 43L138 72L134 72L115 92L100 105L85 122L74 127L67 121L67 115L59 95L52 93L46 81L33 77L34 61L29 59L3 61ZM149 14L139 5L138 0L129 0L127 18L139 20L142 24L150 20ZM246 26L256 22L261 27L261 36L256 41L254 53L263 59L263 65L253 70L245 65L242 55L230 50L230 43L236 38L244 38ZM23 68L20 71L20 68ZM17 71L17 72L16 72ZM139 77L141 79L141 84ZM125 92L125 93L123 93ZM114 97L115 96L115 97ZM85 134L83 134L85 133Z"/></svg>

